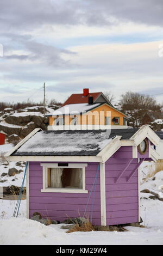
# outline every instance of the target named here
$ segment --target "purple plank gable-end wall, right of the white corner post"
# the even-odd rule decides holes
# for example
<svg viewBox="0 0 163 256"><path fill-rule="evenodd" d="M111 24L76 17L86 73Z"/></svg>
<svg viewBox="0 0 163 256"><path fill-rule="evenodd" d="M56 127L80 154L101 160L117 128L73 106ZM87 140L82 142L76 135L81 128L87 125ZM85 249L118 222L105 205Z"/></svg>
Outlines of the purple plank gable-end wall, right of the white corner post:
<svg viewBox="0 0 163 256"><path fill-rule="evenodd" d="M133 159L130 166L122 174L129 159L132 158L132 147L121 147L105 163L106 178L106 225L127 224L138 222L139 197L138 197L138 173L127 182L127 177L137 164Z"/></svg>

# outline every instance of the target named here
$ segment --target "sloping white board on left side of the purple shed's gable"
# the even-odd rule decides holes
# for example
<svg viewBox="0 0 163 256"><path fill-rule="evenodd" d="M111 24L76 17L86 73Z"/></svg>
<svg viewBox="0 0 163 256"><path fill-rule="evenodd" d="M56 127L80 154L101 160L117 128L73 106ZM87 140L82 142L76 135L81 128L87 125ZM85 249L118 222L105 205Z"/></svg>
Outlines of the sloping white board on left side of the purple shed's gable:
<svg viewBox="0 0 163 256"><path fill-rule="evenodd" d="M122 136L116 136L98 153L97 156L102 157L102 162L107 161L120 147Z"/></svg>

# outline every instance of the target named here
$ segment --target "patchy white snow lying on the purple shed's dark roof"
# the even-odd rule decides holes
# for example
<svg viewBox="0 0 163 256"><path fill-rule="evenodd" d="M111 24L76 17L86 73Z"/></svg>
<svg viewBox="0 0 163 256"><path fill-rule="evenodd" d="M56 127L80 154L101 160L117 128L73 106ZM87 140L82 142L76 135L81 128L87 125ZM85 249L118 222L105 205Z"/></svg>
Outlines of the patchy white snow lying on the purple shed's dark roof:
<svg viewBox="0 0 163 256"><path fill-rule="evenodd" d="M37 132L17 150L18 153L74 152L101 150L111 139L108 133Z"/></svg>

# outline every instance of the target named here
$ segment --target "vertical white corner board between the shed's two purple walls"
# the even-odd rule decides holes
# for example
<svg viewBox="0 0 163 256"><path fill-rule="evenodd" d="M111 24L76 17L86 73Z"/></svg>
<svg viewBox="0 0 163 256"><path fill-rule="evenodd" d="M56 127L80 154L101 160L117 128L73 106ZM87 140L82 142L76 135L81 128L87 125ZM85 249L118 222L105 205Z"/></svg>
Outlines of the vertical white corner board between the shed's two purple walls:
<svg viewBox="0 0 163 256"><path fill-rule="evenodd" d="M101 225L106 225L105 163L100 163Z"/></svg>

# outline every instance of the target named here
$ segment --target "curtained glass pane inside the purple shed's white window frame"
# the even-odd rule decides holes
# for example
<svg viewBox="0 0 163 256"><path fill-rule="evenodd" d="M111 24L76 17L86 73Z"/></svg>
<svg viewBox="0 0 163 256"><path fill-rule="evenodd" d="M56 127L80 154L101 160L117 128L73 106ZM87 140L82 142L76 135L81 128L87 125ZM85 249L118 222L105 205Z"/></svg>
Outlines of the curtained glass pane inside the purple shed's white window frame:
<svg viewBox="0 0 163 256"><path fill-rule="evenodd" d="M82 168L48 168L48 187L83 188Z"/></svg>

